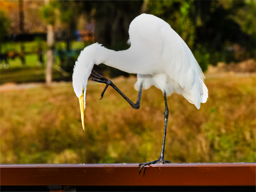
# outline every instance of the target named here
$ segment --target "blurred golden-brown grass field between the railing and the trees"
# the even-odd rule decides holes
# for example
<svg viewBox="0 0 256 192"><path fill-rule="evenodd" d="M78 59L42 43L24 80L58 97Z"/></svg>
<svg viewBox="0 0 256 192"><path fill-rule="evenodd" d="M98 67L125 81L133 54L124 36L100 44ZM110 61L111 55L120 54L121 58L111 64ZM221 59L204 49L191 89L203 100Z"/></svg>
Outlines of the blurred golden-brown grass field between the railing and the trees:
<svg viewBox="0 0 256 192"><path fill-rule="evenodd" d="M165 159L171 162L255 162L255 74L209 78L199 110L181 95L168 97ZM134 77L113 82L136 101ZM1 164L123 163L159 158L163 93L143 91L141 108L89 81L85 132L71 83L1 92Z"/></svg>

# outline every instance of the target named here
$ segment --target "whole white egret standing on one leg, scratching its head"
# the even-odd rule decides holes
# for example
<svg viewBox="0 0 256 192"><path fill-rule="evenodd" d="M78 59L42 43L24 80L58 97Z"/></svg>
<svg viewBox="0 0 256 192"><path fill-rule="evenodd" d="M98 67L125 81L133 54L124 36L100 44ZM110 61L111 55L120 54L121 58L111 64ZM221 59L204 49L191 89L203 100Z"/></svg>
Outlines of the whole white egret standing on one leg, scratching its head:
<svg viewBox="0 0 256 192"><path fill-rule="evenodd" d="M84 48L75 62L73 88L79 98L83 131L85 92L90 75L93 76L93 81L106 84L101 98L110 85L134 109L140 107L142 89L149 89L151 85L155 85L163 91L165 124L161 155L158 160L140 163L140 173L146 165L170 162L164 159L169 115L167 96L174 92L181 94L199 109L200 103L205 103L208 98L208 90L204 84L204 74L191 50L164 20L150 14L137 16L129 27L128 44L130 48L124 51L110 50L98 43ZM126 97L112 81L92 70L94 64L100 63L127 73L137 73L134 88L139 94L136 103Z"/></svg>

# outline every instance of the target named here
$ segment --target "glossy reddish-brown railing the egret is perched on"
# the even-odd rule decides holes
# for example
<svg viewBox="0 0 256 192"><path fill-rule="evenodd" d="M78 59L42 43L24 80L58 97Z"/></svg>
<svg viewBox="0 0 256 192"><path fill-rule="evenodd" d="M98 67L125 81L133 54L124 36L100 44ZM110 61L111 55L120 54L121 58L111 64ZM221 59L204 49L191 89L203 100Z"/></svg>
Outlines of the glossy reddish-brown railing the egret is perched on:
<svg viewBox="0 0 256 192"><path fill-rule="evenodd" d="M1 190L14 186L50 186L49 191L81 186L256 185L255 163L153 164L140 175L138 164L2 164L0 171Z"/></svg>

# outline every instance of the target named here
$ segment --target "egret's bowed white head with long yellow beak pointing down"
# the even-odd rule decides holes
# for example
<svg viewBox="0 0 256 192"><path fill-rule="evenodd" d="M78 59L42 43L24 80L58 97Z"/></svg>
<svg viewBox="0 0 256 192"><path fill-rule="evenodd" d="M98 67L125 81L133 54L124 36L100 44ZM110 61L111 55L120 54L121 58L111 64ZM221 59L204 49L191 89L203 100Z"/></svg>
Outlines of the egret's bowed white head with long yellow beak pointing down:
<svg viewBox="0 0 256 192"><path fill-rule="evenodd" d="M73 88L75 95L79 99L80 111L81 111L81 121L84 131L84 109L85 109L85 93L86 85L91 74L94 61L91 57L91 46L84 48L77 61L75 61L74 71L73 71Z"/></svg>

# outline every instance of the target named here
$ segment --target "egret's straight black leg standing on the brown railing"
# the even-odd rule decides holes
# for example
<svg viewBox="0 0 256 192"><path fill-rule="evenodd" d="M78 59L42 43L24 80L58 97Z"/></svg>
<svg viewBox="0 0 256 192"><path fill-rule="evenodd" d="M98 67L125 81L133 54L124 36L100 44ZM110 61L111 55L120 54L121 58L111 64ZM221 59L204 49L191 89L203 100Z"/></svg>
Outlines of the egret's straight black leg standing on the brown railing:
<svg viewBox="0 0 256 192"><path fill-rule="evenodd" d="M143 167L145 167L146 165L155 164L155 163L171 163L171 161L164 159L164 156L165 156L165 138L166 138L168 116L169 116L169 109L168 109L168 105L167 105L167 97L166 97L165 92L164 92L164 98L165 98L165 112L164 112L165 126L164 126L164 136L163 136L163 145L162 145L161 155L160 155L158 160L154 160L154 161L150 161L150 162L146 162L146 163L140 163L139 164L139 168L140 168L139 169L139 174L141 173L141 170L143 169Z"/></svg>

